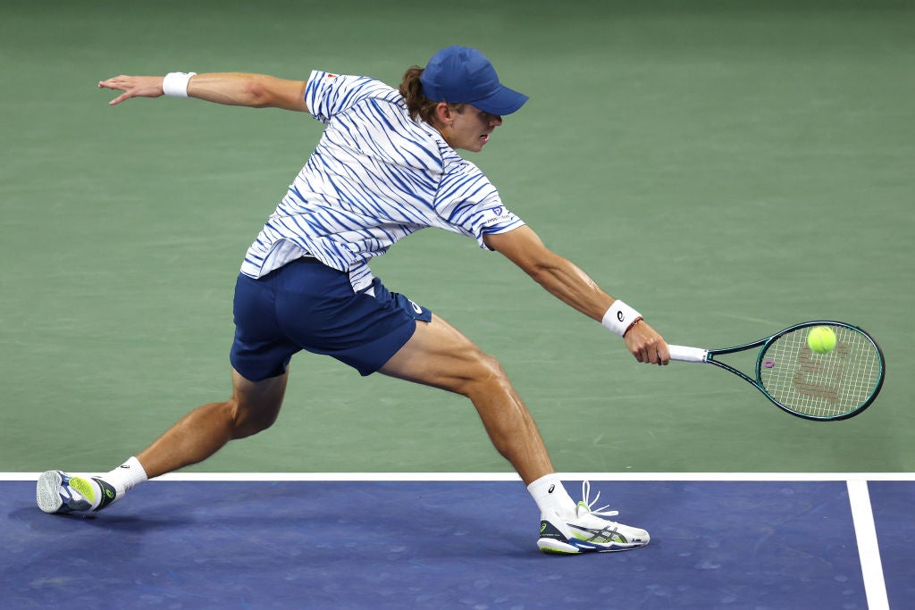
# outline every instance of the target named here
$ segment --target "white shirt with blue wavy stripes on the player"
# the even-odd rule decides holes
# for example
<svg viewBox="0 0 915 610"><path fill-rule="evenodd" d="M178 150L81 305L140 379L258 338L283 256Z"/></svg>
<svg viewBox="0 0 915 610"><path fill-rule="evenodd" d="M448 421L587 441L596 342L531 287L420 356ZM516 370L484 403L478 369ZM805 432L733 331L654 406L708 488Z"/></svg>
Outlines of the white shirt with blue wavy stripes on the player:
<svg viewBox="0 0 915 610"><path fill-rule="evenodd" d="M484 235L524 224L477 166L410 118L399 91L315 70L305 101L327 127L245 255L245 275L308 253L350 273L359 291L371 284L371 258L417 230L454 231L486 248Z"/></svg>

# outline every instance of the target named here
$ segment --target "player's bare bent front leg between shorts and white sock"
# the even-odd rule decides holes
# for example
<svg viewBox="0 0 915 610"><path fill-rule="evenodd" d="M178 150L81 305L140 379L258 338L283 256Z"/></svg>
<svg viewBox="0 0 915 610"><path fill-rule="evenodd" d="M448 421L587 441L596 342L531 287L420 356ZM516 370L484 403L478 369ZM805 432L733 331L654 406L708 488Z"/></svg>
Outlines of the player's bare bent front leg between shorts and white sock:
<svg viewBox="0 0 915 610"><path fill-rule="evenodd" d="M492 444L525 485L554 472L533 417L498 360L442 318L433 315L431 323L417 323L414 336L381 372L467 396Z"/></svg>

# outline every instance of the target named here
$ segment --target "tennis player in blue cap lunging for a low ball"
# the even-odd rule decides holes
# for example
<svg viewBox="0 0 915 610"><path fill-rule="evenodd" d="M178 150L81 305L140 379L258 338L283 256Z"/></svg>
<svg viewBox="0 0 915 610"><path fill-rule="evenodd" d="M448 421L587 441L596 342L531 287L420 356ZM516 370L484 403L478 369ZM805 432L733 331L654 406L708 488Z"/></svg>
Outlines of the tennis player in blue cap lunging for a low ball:
<svg viewBox="0 0 915 610"><path fill-rule="evenodd" d="M318 70L306 81L172 72L118 76L99 87L122 91L112 105L135 97L193 97L310 112L326 127L244 256L234 296L231 398L188 413L108 474L44 473L39 508L100 510L147 478L265 430L283 403L290 359L307 350L362 375L380 372L467 396L540 508L543 551L622 551L648 543L645 530L603 519L617 512L593 508L597 498L589 498L586 486L581 502L568 495L496 359L424 306L389 291L369 268L372 258L416 230L466 235L623 337L635 359L668 363L667 344L635 309L548 250L479 168L456 152L481 151L502 117L528 99L502 85L479 50L438 51L425 69L406 71L399 91L379 80Z"/></svg>

